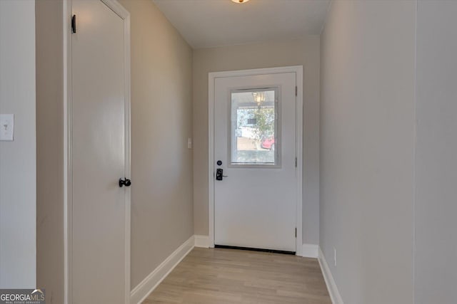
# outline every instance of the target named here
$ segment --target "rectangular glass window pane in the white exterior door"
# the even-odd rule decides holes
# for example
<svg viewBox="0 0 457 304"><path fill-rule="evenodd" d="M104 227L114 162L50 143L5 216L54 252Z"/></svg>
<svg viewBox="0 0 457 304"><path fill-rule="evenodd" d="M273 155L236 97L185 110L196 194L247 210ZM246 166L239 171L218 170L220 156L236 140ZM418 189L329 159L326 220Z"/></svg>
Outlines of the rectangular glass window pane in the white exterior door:
<svg viewBox="0 0 457 304"><path fill-rule="evenodd" d="M231 164L278 164L277 90L231 92Z"/></svg>

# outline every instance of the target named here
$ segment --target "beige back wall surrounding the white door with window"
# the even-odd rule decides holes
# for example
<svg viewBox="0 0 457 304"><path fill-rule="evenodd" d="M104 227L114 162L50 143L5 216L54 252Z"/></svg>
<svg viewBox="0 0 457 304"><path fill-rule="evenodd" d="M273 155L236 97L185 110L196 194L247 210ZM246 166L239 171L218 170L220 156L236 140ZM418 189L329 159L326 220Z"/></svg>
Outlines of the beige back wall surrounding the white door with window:
<svg viewBox="0 0 457 304"><path fill-rule="evenodd" d="M194 223L208 226L208 73L303 65L303 243L318 243L319 36L194 51Z"/></svg>

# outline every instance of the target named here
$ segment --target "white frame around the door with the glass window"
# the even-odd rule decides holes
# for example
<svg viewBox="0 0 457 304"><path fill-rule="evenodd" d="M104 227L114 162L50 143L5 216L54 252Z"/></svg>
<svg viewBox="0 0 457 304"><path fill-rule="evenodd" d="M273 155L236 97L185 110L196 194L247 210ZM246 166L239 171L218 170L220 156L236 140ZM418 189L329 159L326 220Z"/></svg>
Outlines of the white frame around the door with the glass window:
<svg viewBox="0 0 457 304"><path fill-rule="evenodd" d="M303 65L251 70L229 70L208 73L208 200L209 200L209 246L214 248L214 103L216 78L241 77L265 74L296 73L296 157L297 157L297 201L296 201L296 255L302 255L302 209L303 209Z"/></svg>

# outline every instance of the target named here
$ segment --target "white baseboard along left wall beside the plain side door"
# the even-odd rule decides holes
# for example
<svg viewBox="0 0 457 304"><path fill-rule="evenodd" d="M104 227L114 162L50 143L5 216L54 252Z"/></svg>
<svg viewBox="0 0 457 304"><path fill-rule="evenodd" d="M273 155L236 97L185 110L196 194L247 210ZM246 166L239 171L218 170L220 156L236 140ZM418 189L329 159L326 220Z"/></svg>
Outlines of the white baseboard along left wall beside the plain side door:
<svg viewBox="0 0 457 304"><path fill-rule="evenodd" d="M179 248L177 248L171 255L166 258L149 276L144 278L130 293L131 304L141 304L164 278L171 273L176 265L187 256L187 254L194 248L195 237L191 236Z"/></svg>

